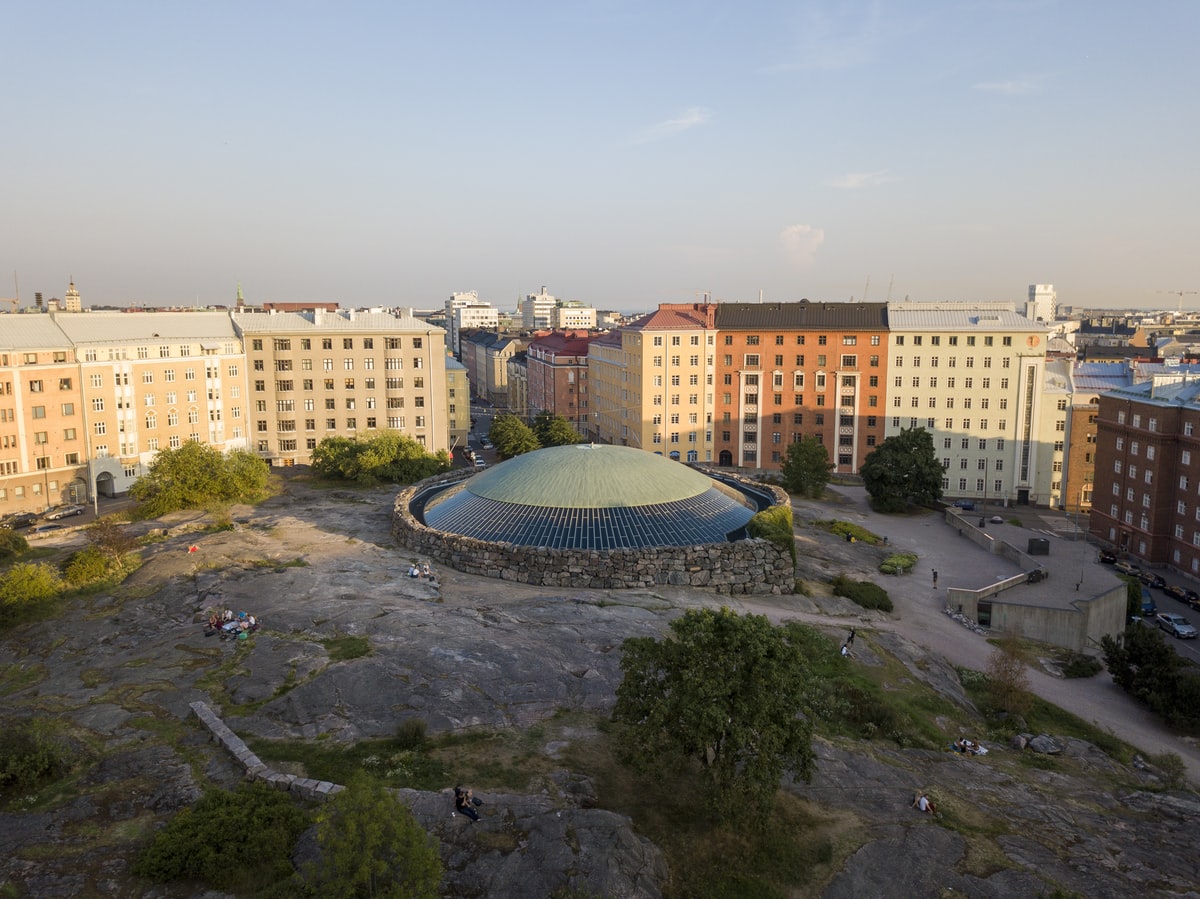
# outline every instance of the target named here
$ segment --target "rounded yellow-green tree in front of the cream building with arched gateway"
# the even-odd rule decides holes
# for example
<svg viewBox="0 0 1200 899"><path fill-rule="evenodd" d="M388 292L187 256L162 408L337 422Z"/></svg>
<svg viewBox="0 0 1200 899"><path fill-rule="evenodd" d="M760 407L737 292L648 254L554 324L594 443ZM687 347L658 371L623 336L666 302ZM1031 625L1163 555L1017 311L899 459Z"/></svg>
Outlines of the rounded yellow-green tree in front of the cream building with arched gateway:
<svg viewBox="0 0 1200 899"><path fill-rule="evenodd" d="M248 450L227 454L197 440L160 450L130 496L150 517L221 503L252 503L266 493L266 462Z"/></svg>

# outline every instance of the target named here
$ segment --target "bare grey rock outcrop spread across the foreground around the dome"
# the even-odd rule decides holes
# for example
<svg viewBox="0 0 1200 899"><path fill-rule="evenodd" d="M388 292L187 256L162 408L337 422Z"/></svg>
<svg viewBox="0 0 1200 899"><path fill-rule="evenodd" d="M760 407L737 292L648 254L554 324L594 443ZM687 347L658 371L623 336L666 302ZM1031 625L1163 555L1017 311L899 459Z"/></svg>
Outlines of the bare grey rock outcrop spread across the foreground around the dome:
<svg viewBox="0 0 1200 899"><path fill-rule="evenodd" d="M660 634L686 607L731 601L670 588L564 592L446 570L436 582L409 579L413 555L391 544L392 496L293 483L287 495L239 510L232 532L184 534L196 516L175 516L119 598L89 598L5 635L6 714L70 723L90 763L71 798L13 797L0 813L0 883L37 897L143 894L127 873L137 834L204 785L244 777L190 717L193 701L222 709L239 733L268 737L349 741L392 733L410 717L432 731L524 726L562 708L608 708L624 637ZM805 539L838 551L818 534ZM187 553L188 544L199 552ZM846 627L847 618L828 617L835 606L822 612L804 597L760 599L757 611L763 603L776 618ZM204 637L197 619L215 605L246 609L263 627L245 643ZM862 664L895 658L901 679L970 707L954 669L887 633L882 616L848 621L859 627ZM330 661L325 641L344 635L366 637L371 654ZM238 708L257 702L253 712ZM956 736L947 732L947 742ZM986 756L972 759L883 741L820 742L812 784L790 789L850 823L835 841L834 873L810 894L1198 895L1196 796L1162 791L1152 768L1043 736L1056 755L988 744ZM910 807L918 789L937 816ZM602 797L571 772L539 795L487 793L480 825L451 817L449 793L407 798L442 840L448 895L523 899L570 886L654 897L666 883L656 850L599 808Z"/></svg>

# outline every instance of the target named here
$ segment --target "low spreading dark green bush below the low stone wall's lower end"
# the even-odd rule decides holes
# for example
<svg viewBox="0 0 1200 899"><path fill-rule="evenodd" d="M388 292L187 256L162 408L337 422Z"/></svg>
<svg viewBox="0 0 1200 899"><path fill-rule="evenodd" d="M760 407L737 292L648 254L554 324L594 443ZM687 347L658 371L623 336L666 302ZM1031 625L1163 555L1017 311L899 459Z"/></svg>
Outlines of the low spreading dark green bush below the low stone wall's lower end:
<svg viewBox="0 0 1200 899"><path fill-rule="evenodd" d="M222 891L278 883L294 874L292 850L307 826L308 816L288 795L265 784L242 784L232 793L210 790L158 832L133 873L158 883L199 880Z"/></svg>

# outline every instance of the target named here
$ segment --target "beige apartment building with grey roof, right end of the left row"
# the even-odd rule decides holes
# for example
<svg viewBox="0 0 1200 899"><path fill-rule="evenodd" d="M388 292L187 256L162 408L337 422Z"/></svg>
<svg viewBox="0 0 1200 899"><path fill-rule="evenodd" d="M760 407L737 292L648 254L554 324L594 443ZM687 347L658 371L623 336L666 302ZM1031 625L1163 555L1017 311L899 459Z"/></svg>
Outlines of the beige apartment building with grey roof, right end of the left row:
<svg viewBox="0 0 1200 899"><path fill-rule="evenodd" d="M350 310L244 311L233 326L250 370L251 449L271 465L307 463L324 437L385 428L449 450L443 329Z"/></svg>

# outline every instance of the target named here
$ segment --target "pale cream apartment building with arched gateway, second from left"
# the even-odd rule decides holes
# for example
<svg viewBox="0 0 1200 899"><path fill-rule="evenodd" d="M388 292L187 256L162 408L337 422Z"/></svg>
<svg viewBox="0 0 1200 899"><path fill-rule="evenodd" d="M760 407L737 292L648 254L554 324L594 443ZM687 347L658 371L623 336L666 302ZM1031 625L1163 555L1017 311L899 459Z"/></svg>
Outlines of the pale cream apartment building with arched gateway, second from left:
<svg viewBox="0 0 1200 899"><path fill-rule="evenodd" d="M247 446L246 361L226 312L88 312L54 320L79 366L85 459L102 496L161 449Z"/></svg>

